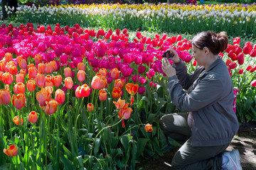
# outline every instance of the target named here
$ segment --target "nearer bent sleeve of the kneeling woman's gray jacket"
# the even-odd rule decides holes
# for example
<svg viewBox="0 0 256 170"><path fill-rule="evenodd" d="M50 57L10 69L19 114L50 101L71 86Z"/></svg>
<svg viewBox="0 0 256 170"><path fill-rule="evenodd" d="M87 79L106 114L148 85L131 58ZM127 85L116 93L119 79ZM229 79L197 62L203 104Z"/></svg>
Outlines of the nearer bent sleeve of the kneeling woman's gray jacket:
<svg viewBox="0 0 256 170"><path fill-rule="evenodd" d="M201 79L189 94L183 91L176 76L169 77L168 81L167 89L171 101L180 111L198 111L218 101L223 94L223 85L214 76Z"/></svg>

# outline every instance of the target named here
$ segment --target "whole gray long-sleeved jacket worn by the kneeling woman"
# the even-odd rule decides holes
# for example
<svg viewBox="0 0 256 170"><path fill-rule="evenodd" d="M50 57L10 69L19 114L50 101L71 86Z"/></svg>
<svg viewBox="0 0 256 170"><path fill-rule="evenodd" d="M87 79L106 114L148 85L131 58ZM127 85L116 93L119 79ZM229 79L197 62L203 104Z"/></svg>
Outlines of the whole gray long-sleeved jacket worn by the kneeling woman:
<svg viewBox="0 0 256 170"><path fill-rule="evenodd" d="M176 75L168 78L167 88L176 107L193 114L191 145L230 143L239 124L233 111L233 82L225 62L219 58L208 69L198 66L191 74L182 61L174 67Z"/></svg>

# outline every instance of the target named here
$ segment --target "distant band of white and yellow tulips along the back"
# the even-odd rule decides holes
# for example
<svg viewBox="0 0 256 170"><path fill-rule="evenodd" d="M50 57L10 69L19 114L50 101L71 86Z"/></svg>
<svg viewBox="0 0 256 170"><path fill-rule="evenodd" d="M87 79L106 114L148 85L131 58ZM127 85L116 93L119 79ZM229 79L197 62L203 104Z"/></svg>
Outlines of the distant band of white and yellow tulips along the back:
<svg viewBox="0 0 256 170"><path fill-rule="evenodd" d="M13 9L7 8L11 15ZM92 4L61 6L20 6L16 17L32 23L56 23L86 27L168 30L196 33L211 29L226 30L231 35L255 35L256 6L186 5L186 4ZM115 21L115 22L109 22ZM73 23L75 22L75 23ZM235 27L235 28L233 28ZM219 30L218 30L219 29Z"/></svg>

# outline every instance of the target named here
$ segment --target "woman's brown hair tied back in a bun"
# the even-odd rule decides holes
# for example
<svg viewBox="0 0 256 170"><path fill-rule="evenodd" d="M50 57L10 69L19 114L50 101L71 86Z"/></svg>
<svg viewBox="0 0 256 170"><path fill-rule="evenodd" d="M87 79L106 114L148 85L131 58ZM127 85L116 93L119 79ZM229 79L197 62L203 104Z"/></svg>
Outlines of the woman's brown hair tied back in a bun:
<svg viewBox="0 0 256 170"><path fill-rule="evenodd" d="M228 47L228 35L225 31L218 34L211 30L198 33L192 40L192 44L203 50L203 47L213 52L213 55L218 55Z"/></svg>

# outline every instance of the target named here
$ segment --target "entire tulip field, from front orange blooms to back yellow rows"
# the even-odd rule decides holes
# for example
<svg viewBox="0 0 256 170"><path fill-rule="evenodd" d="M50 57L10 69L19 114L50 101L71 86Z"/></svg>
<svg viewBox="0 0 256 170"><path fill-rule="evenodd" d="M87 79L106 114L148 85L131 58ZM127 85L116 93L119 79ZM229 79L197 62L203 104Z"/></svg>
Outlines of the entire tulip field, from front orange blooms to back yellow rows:
<svg viewBox="0 0 256 170"><path fill-rule="evenodd" d="M130 17L138 24L161 21L159 13L171 18L163 29L148 25L154 31L191 18L196 26L189 29L198 31L201 24L213 28L215 16L227 16L218 26L230 31L230 44L219 55L233 79L234 111L240 123L256 120L254 4L227 7L225 14L218 6L190 6L190 13L188 6L170 5L173 14L161 6L113 6L23 6L17 18L1 23L0 169L135 169L178 145L159 128L162 115L178 112L161 60L173 47L189 72L196 69L190 38L167 32L149 37Z"/></svg>

